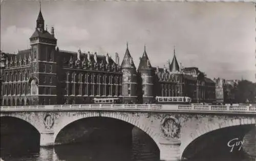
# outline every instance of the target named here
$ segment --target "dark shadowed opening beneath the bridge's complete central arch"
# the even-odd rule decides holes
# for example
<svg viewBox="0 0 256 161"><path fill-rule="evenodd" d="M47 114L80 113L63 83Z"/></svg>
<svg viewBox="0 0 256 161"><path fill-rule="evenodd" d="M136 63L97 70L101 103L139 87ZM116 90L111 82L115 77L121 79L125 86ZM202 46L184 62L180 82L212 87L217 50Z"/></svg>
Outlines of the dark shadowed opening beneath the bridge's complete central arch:
<svg viewBox="0 0 256 161"><path fill-rule="evenodd" d="M100 125L100 126L98 126L98 125ZM83 126L83 127L80 127L80 126ZM98 129L98 127L101 129ZM144 141L150 141L151 142L150 144L154 145L154 150L157 149L158 152L160 152L158 145L151 138L151 136L149 136L145 131L143 131L139 127L137 127L127 121L123 121L123 120L120 120L117 118L93 117L93 116L92 117L84 117L84 118L80 118L75 121L72 121L69 124L67 124L66 126L64 126L58 133L56 133L56 137L55 137L55 141L54 141L54 144L55 144L54 151L56 152L59 159L70 158L71 160L72 159L80 160L81 155L83 155L85 157L92 157L91 160L102 160L102 157L104 155L106 157L105 158L106 160L111 158L111 160L125 160L126 161L126 159L129 160L129 157L140 157L138 155L134 155L134 153L133 153L133 156L132 155L126 156L127 151L129 151L129 150L133 151L134 149L138 149L138 145L136 145L136 147L131 145L132 142L134 141L133 140L134 137L132 137L134 127L136 127L135 128L136 132L140 131L140 134L143 133L143 136L144 135L146 136L147 139L145 139ZM94 131L92 131L92 130L94 130ZM86 132L84 132L84 131L86 131ZM74 139L74 137L72 137L72 135L70 134L71 132L76 132L76 134L73 135L74 137L78 136L78 137L82 138L81 135L84 135L85 137L82 138L82 140L83 141L85 140L85 142L84 143L77 142L77 141L81 141L81 140ZM114 132L115 134L113 134L112 132ZM79 133L81 133L81 135L79 135ZM99 135L104 136L103 140L108 140L108 139L109 140L106 142L102 142L102 138L98 137L97 133L100 133ZM127 133L127 135L125 133ZM113 136L110 137L110 135L113 135ZM131 138L129 138L129 135ZM65 139L65 141L66 141L66 139L67 139L66 136L70 137L70 139L68 138L69 141L72 138L74 139L73 144L66 143L66 144L62 144L61 146L56 146L56 145L60 144L62 139ZM115 137L117 137L118 143L115 142ZM113 138L114 138L114 140L113 140ZM129 139L131 139L131 140L129 140ZM138 139L138 138L136 138L136 139ZM125 140L125 142L119 143L120 140ZM96 141L96 142L94 142L94 141ZM129 144L129 142L131 142L131 143ZM83 147L83 146L85 146L85 147ZM131 146L132 146L132 148L131 148ZM79 148L77 148L77 147L79 147ZM97 147L97 148L95 148L95 147ZM119 148L116 149L116 147L119 147ZM70 151L69 149L76 149L76 150L73 150L72 154L68 154L69 152L67 152L67 151ZM83 149L83 150L80 150L80 149ZM95 149L97 149L97 150L95 150ZM119 153L119 154L117 154L117 156L105 154L107 152L107 153L111 153L111 154L115 155L112 151L109 151L109 149L112 149L112 150L116 151L116 153ZM146 149L144 149L144 150L146 150ZM94 151L101 151L100 156L95 156L95 154L93 154L93 153L95 153ZM158 153L158 152L156 152L156 153ZM125 157L120 156L120 154L124 155ZM76 158L71 157L71 155L72 156L75 155ZM156 155L155 157L157 157L159 159L158 155ZM154 160L156 160L156 159L154 159Z"/></svg>

